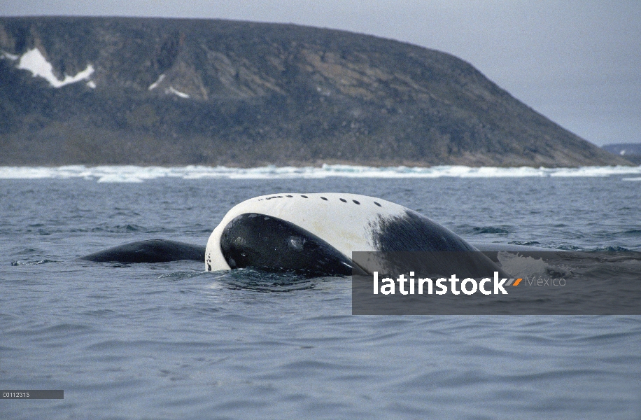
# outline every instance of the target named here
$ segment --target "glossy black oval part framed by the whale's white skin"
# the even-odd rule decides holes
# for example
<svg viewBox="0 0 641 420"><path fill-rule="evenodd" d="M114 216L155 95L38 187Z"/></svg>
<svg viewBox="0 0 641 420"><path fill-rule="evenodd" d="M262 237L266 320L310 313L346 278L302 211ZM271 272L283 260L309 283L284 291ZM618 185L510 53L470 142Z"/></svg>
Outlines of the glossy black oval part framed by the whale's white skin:
<svg viewBox="0 0 641 420"><path fill-rule="evenodd" d="M231 268L350 276L353 262L313 233L264 214L246 213L223 230L220 249Z"/></svg>

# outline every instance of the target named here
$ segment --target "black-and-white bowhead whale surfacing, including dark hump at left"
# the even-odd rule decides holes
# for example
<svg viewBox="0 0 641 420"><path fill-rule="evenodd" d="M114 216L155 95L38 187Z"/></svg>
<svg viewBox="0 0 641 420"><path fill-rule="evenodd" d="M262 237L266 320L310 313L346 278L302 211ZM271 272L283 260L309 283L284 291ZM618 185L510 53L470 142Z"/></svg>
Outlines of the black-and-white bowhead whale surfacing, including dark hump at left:
<svg viewBox="0 0 641 420"><path fill-rule="evenodd" d="M163 262L204 256L207 271L255 267L350 275L359 268L351 260L352 251L479 250L422 214L387 200L343 193L279 193L233 207L211 233L204 253L201 246L154 239L83 259Z"/></svg>

